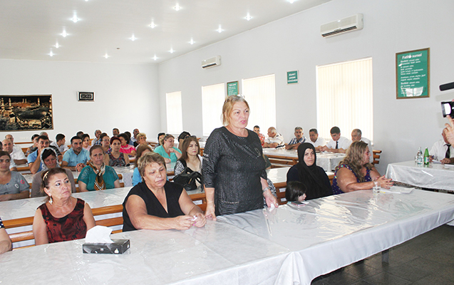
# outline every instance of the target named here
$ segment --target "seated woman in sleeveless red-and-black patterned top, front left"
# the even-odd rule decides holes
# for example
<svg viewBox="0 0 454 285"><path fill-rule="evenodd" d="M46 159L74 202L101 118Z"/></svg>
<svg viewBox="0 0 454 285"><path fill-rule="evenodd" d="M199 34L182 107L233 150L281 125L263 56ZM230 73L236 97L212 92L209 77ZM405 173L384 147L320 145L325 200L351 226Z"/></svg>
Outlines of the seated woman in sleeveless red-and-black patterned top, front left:
<svg viewBox="0 0 454 285"><path fill-rule="evenodd" d="M95 227L90 206L71 196L71 182L63 168L43 172L41 191L47 198L33 218L36 245L83 239Z"/></svg>

